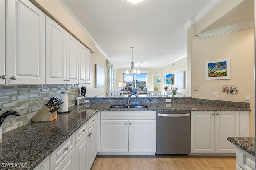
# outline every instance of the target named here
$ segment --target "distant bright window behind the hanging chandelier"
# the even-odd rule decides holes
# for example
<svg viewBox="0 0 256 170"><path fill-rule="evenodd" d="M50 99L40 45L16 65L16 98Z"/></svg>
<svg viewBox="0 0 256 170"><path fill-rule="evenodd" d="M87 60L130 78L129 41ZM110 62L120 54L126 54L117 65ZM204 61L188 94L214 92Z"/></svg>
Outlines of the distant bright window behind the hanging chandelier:
<svg viewBox="0 0 256 170"><path fill-rule="evenodd" d="M140 88L143 90L144 87L148 85L148 74L125 74L123 73L123 82L126 82L126 86L131 86L132 88Z"/></svg>

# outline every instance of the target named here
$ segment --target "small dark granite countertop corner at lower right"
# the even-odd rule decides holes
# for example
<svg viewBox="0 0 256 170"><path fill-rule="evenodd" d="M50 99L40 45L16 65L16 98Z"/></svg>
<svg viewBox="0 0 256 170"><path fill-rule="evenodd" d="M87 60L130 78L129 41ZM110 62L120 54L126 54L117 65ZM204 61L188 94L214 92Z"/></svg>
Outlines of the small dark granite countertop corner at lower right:
<svg viewBox="0 0 256 170"><path fill-rule="evenodd" d="M227 140L255 156L255 137L228 137Z"/></svg>

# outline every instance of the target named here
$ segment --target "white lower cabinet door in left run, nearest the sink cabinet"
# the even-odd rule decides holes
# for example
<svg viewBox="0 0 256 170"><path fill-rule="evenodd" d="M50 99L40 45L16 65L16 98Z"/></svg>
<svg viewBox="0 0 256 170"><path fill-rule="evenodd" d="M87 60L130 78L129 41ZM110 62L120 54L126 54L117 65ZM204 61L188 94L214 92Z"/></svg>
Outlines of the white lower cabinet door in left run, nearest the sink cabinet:
<svg viewBox="0 0 256 170"><path fill-rule="evenodd" d="M87 145L87 150L89 150L87 160L89 166L88 170L92 167L94 159L96 158L96 155L98 153L96 124L94 124L89 130L89 135L89 145Z"/></svg>

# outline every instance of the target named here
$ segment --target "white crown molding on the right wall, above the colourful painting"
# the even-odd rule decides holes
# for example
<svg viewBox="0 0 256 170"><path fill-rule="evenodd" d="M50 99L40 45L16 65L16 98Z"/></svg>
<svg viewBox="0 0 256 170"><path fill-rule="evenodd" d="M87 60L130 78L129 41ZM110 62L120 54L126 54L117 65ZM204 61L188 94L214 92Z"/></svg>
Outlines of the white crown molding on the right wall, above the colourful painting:
<svg viewBox="0 0 256 170"><path fill-rule="evenodd" d="M221 35L221 34L224 34L224 33L230 33L230 32L233 32L233 31L246 29L246 28L249 28L249 27L254 27L254 19L244 21L244 22L240 22L240 23L235 23L233 25L228 25L226 27L221 27L221 28L218 28L218 29L214 29L214 30L211 30L211 31L204 32L204 33L199 33L197 35L201 39L205 39L205 38L213 37L213 36L216 36L216 35Z"/></svg>

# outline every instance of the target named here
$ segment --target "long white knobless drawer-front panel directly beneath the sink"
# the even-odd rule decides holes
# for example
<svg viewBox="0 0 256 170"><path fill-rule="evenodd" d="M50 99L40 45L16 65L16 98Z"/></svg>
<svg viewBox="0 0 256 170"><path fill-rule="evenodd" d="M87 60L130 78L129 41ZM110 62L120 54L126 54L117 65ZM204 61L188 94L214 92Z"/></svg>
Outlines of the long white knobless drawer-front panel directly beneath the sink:
<svg viewBox="0 0 256 170"><path fill-rule="evenodd" d="M155 120L156 111L102 111L101 120Z"/></svg>

